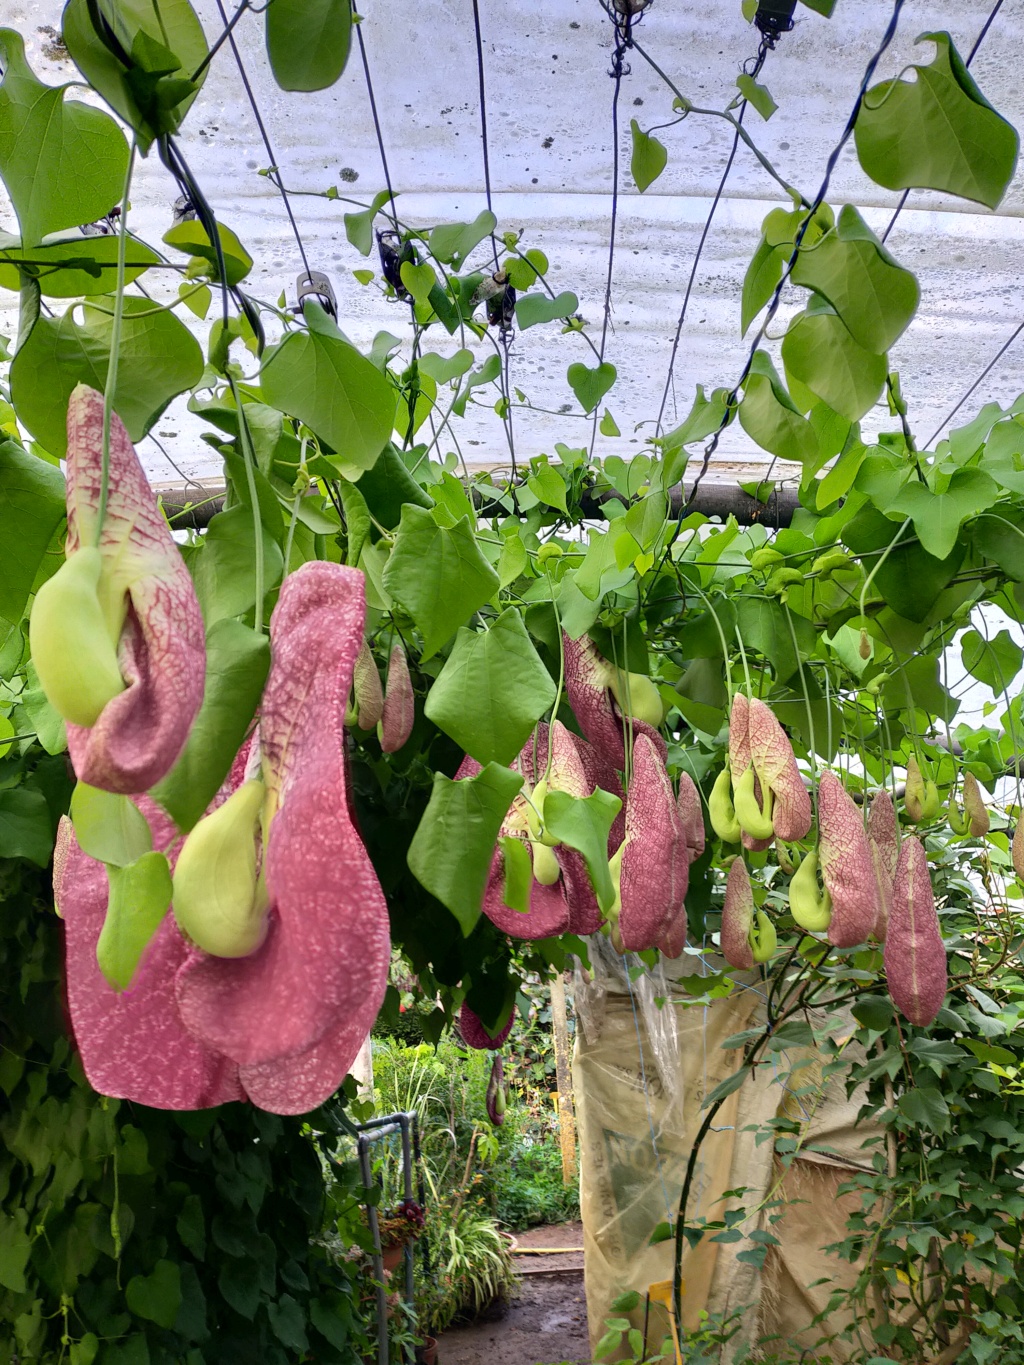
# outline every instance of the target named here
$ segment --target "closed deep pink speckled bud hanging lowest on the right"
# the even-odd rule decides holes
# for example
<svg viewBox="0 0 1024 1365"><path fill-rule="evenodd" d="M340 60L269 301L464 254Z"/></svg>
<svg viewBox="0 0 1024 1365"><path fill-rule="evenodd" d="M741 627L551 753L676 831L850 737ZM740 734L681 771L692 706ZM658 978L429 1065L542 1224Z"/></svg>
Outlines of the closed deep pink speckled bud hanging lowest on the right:
<svg viewBox="0 0 1024 1365"><path fill-rule="evenodd" d="M911 1024L926 1026L946 998L946 949L942 943L928 860L920 839L900 848L893 906L885 940L885 972L893 1003Z"/></svg>

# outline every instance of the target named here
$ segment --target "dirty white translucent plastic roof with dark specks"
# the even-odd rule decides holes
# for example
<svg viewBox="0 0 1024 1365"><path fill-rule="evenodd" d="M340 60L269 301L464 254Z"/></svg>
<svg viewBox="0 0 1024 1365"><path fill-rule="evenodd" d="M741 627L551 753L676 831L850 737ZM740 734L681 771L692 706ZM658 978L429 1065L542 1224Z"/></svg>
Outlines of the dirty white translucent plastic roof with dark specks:
<svg viewBox="0 0 1024 1365"><path fill-rule="evenodd" d="M362 37L400 217L414 225L475 218L486 198L472 0L366 0L363 8ZM927 42L915 46L915 38L937 29L949 30L967 56L991 8L990 0L908 0L877 79L896 75L915 60L927 63L934 49ZM217 0L198 0L197 10L208 38L214 40L224 27ZM821 183L892 10L890 0L838 0L833 18L825 19L799 5L793 31L767 56L759 79L778 111L766 123L751 109L744 126L808 198ZM30 61L51 83L75 78L72 63L55 41L60 11L59 0L0 0L0 22L26 35ZM612 218L612 23L598 0L531 5L479 0L479 22L498 232L522 231L523 247L539 247L547 255L553 288L578 295L597 339ZM291 191L306 259L332 278L343 329L360 347L369 347L382 329L408 343L406 307L355 280L354 269L377 262L360 258L344 231L343 214L352 210L345 198L366 205L385 186L356 44L335 87L287 94L270 75L261 16L244 15L235 33L274 162ZM743 63L758 46L740 0L653 0L635 33L643 52L674 86L711 109L729 102ZM1017 67L1023 46L1024 3L1010 0L999 8L971 68L986 97L1016 127L1024 116ZM606 347L618 378L602 403L623 434L597 437L598 453L624 456L640 449L654 431L687 278L732 145L729 124L717 117L694 113L662 128L658 136L668 146L668 167L640 195L629 176L629 120L635 117L649 130L672 123L676 115L672 91L646 57L631 52L627 64L618 100L620 194ZM294 302L302 258L279 191L259 175L270 157L228 44L213 60L182 138L217 217L238 232L255 259L250 292L266 300L284 292ZM322 197L332 186L340 198ZM177 192L152 153L132 184L132 228L157 242L171 225ZM881 233L898 195L867 180L851 141L836 167L829 202L836 207L857 205ZM762 218L785 203L778 184L740 145L696 269L669 386L666 427L685 415L698 382L736 382L750 344L739 328L743 274ZM892 231L890 250L915 270L922 285L918 315L890 356L922 441L942 426L1023 315L1023 209L1019 171L995 213L913 191ZM0 227L16 231L10 205L3 205ZM483 266L486 244L478 255ZM158 296L172 295L164 281L153 288ZM12 336L14 295L5 293L0 306L0 329ZM789 311L796 306L795 293ZM776 334L781 334L786 315L784 307ZM187 313L184 318L205 340L205 325ZM427 344L451 354L457 339L431 334ZM481 359L492 354L486 344L478 349ZM1021 355L1024 341L993 367L957 420L967 420L993 397L1008 403L1024 388ZM563 336L556 322L516 336L511 382L535 410L543 410L515 411L519 457L553 452L558 441L588 442L591 422L579 415L565 381L565 369L575 360L593 363L582 340ZM455 425L470 464L507 463L501 425L490 408L471 408L468 419ZM889 425L883 408L864 420L868 433ZM153 433L167 455L150 441L141 448L154 482L217 479L218 460L199 441L201 430L184 399L168 408ZM442 441L441 449L449 448L451 442ZM735 476L739 467L760 470L766 463L763 452L733 426L721 442L714 472Z"/></svg>

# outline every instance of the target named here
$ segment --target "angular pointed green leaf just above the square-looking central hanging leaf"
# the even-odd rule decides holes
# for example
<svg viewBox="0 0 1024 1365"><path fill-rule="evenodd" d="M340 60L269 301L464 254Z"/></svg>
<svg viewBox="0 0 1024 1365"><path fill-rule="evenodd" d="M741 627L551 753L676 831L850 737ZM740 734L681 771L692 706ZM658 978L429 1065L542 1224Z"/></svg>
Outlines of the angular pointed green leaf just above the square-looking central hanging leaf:
<svg viewBox="0 0 1024 1365"><path fill-rule="evenodd" d="M403 508L384 587L416 622L425 658L436 654L497 586L498 576L481 554L468 517L446 527L426 508Z"/></svg>

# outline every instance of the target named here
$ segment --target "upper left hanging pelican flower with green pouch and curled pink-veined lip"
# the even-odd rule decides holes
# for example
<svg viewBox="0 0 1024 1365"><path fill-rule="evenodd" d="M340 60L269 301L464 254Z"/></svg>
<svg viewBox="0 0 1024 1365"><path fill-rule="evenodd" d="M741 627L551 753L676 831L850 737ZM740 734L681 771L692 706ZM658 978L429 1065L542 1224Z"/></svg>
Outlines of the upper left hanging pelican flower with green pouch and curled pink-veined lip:
<svg viewBox="0 0 1024 1365"><path fill-rule="evenodd" d="M67 415L66 562L35 594L29 639L81 781L134 793L182 752L206 646L193 580L116 414L100 526L102 426L102 396L79 384Z"/></svg>

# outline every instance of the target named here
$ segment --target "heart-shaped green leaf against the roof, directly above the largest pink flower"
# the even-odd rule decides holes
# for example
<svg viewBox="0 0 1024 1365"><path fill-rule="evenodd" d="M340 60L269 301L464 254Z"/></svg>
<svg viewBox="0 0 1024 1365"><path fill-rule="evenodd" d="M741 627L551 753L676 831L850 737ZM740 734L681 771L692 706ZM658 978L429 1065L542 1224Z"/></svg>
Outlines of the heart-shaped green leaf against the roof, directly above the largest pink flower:
<svg viewBox="0 0 1024 1365"><path fill-rule="evenodd" d="M395 423L395 389L341 336L315 302L304 307L309 330L292 332L264 358L268 403L288 412L337 452L333 463L358 479L384 449Z"/></svg>

